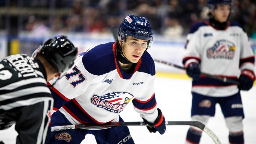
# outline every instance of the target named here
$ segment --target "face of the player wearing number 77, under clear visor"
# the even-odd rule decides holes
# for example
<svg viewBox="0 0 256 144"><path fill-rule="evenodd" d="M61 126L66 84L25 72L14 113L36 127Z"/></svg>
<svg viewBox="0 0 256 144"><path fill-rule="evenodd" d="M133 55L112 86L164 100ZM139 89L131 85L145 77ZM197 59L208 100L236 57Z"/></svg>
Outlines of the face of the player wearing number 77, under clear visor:
<svg viewBox="0 0 256 144"><path fill-rule="evenodd" d="M130 62L137 63L147 48L147 42L148 40L127 36L122 44L122 52Z"/></svg>

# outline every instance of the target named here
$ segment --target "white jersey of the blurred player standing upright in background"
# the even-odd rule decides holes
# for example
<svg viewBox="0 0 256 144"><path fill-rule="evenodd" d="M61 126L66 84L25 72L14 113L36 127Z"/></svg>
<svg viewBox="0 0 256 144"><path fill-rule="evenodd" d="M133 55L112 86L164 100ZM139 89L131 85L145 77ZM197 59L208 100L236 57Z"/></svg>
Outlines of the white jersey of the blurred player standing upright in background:
<svg viewBox="0 0 256 144"><path fill-rule="evenodd" d="M237 79L240 71L254 71L255 56L247 34L237 23L228 22L225 30L217 30L207 21L197 23L187 36L183 64L196 62L201 72ZM234 84L201 76L193 80L192 92L212 97L225 97L238 92Z"/></svg>

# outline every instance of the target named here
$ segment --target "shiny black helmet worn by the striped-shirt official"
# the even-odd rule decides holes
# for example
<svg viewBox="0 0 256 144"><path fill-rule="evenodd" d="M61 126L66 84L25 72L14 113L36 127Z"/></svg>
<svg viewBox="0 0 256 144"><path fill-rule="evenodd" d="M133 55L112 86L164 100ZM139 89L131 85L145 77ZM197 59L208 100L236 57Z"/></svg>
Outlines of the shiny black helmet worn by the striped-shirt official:
<svg viewBox="0 0 256 144"><path fill-rule="evenodd" d="M67 39L67 36L59 35L39 46L32 57L44 57L59 73L62 73L73 65L77 52L77 47Z"/></svg>

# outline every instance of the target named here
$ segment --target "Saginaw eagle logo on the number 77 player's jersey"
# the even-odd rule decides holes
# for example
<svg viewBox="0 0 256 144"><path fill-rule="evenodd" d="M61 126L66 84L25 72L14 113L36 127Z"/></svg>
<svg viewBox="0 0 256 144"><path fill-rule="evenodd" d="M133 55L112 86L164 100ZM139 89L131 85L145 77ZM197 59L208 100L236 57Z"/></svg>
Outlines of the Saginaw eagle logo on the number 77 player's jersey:
<svg viewBox="0 0 256 144"><path fill-rule="evenodd" d="M107 111L120 113L132 98L133 95L128 92L111 92L103 96L93 95L91 102Z"/></svg>

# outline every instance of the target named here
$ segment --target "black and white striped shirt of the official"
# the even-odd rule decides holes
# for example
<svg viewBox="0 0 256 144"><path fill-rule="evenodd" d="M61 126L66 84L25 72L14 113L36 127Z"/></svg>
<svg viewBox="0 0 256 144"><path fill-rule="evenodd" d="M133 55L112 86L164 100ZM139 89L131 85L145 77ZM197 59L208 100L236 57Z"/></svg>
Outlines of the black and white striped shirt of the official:
<svg viewBox="0 0 256 144"><path fill-rule="evenodd" d="M11 55L0 62L0 130L16 123L17 144L44 144L53 98L39 59Z"/></svg>

